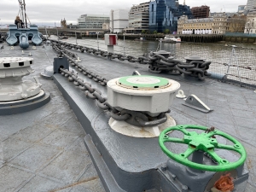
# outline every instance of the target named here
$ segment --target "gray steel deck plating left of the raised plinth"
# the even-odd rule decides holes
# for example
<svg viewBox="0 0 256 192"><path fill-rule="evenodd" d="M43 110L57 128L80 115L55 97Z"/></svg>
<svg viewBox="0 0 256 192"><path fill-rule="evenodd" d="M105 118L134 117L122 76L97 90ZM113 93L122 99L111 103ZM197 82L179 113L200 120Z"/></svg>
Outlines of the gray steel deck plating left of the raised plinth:
<svg viewBox="0 0 256 192"><path fill-rule="evenodd" d="M0 56L32 53L40 76L52 65L51 47L9 50ZM32 47L32 46L31 46ZM30 48L31 48L30 47ZM39 78L51 100L31 112L0 116L0 191L105 191L84 146L85 132L52 80Z"/></svg>

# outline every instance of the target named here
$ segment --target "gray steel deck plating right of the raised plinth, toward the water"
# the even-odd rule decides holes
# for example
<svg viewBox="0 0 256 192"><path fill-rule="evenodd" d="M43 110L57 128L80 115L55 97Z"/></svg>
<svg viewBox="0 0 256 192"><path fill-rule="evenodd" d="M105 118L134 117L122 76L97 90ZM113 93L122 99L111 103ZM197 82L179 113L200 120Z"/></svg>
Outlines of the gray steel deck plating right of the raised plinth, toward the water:
<svg viewBox="0 0 256 192"><path fill-rule="evenodd" d="M213 111L201 113L183 106L183 100L175 99L171 107L172 117L176 119L177 124L215 126L218 130L227 132L241 141L247 149L246 166L250 172L246 191L256 191L256 129L254 128L256 125L256 93L253 90L221 83L214 79L206 79L204 82L189 82L181 76L149 73L148 65L128 61L109 61L101 56L82 54L77 50L71 51L79 55L82 60L79 64L84 63L85 68L106 79L131 75L135 70L141 74L176 79L181 84L181 89L186 96L195 94ZM87 79L83 74L80 77ZM93 84L90 79L88 81Z"/></svg>

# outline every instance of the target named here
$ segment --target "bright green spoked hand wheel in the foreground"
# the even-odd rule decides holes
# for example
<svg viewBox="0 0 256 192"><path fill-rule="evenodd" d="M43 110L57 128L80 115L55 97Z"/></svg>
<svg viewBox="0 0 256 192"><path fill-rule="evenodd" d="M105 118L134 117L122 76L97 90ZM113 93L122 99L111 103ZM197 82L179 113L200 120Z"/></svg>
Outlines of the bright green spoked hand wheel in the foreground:
<svg viewBox="0 0 256 192"><path fill-rule="evenodd" d="M189 166L195 169L209 171L209 172L224 172L236 169L238 166L241 166L247 158L247 153L245 148L239 143L235 138L230 135L222 132L222 131L210 131L210 132L202 132L201 134L196 133L195 131L187 131L187 129L195 129L207 131L207 127L200 125L176 125L172 127L168 127L166 130L162 131L159 137L160 148L163 150L168 157L172 160L175 160L184 166ZM184 134L183 139L169 137L168 133L171 131L181 131ZM212 136L221 136L228 140L230 140L234 145L224 145L218 143L215 138ZM188 144L189 148L183 152L182 154L173 154L171 151L166 148L165 143L183 143ZM224 160L218 156L214 152L214 148L221 148L226 150L233 150L237 153L241 154L241 157L236 162L229 162L228 160ZM190 154L193 154L195 151L203 151L209 154L213 160L218 162L218 166L210 166L204 164L198 164L192 162L188 159Z"/></svg>

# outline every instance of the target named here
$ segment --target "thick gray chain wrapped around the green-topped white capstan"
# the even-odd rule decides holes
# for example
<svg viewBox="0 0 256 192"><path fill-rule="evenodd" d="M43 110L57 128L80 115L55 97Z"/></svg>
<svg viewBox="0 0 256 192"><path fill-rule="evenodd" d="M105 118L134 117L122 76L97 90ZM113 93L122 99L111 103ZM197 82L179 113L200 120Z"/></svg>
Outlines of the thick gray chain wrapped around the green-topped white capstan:
<svg viewBox="0 0 256 192"><path fill-rule="evenodd" d="M165 113L160 113L157 117L151 117L147 113L130 111L126 109L118 110L109 105L107 98L102 97L102 92L91 87L91 84L84 82L83 79L79 79L78 75L73 71L69 72L67 69L60 68L61 75L68 78L70 82L73 82L75 86L79 86L80 90L85 91L87 98L96 100L96 105L102 110L108 110L110 116L115 120L124 120L131 125L136 126L155 126L165 123L167 120L166 113L170 113L168 110Z"/></svg>

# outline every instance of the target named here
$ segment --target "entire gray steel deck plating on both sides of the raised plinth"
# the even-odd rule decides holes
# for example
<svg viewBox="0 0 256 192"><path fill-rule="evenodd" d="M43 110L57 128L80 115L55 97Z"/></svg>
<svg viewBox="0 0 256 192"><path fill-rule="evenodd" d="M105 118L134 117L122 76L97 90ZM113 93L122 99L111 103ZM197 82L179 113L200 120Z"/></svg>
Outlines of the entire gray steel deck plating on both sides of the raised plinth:
<svg viewBox="0 0 256 192"><path fill-rule="evenodd" d="M32 67L36 69L33 75L37 76L52 64L56 55L50 47L29 49L26 55L21 55L19 47L9 50L6 44L4 46L0 56L26 56L31 51L35 59ZM84 67L106 79L131 75L134 70L155 75L148 73L147 65L73 52L79 55ZM171 114L177 124L215 126L241 141L247 149L246 164L250 172L246 191L256 191L256 129L253 126L256 124L256 94L253 90L212 79L189 83L179 76L156 75L177 79L187 96L199 96L214 110L201 113L183 106L183 100L175 99ZM28 113L0 116L3 149L0 191L104 191L84 147L83 128L53 81L40 80L51 96L47 105Z"/></svg>

